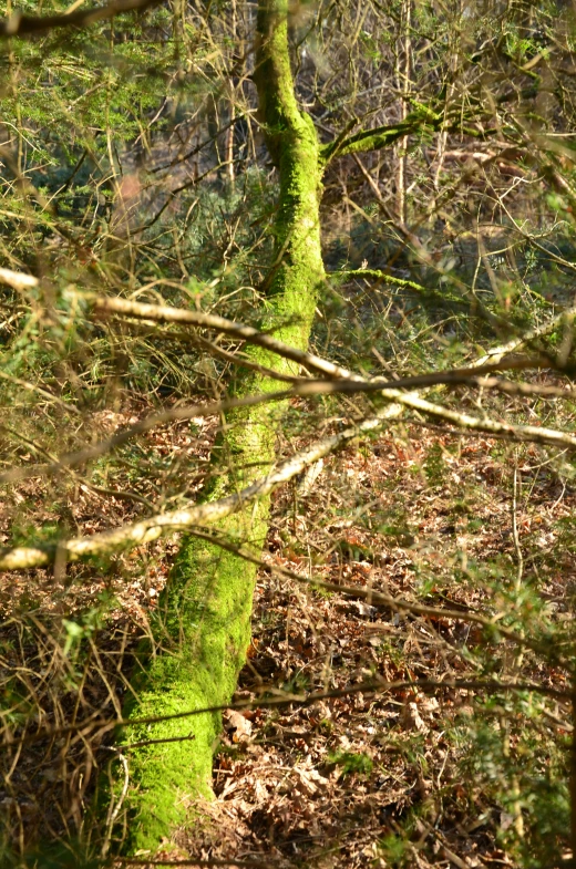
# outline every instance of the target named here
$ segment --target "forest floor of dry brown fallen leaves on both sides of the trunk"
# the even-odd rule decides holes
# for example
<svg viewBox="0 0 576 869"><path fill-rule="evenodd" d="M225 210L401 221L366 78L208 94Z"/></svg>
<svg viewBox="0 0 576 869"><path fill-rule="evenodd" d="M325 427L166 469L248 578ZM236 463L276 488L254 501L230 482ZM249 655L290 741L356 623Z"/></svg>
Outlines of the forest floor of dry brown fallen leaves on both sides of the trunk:
<svg viewBox="0 0 576 869"><path fill-rule="evenodd" d="M102 433L142 415L142 407L110 413ZM198 418L194 435L187 424L150 432L143 455L151 466L157 462L177 474L184 459L208 457L215 424ZM280 446L289 454L305 444L300 438ZM130 490L128 465L117 468L114 485ZM187 497L195 485L191 480ZM4 497L0 539L2 531L8 539L14 517L24 527L27 504L35 505L38 516L39 495L52 505L44 510L47 525L62 515L65 499L70 527L82 534L142 510L141 503L99 494L81 479L33 479ZM575 506L576 489L534 446L395 425L330 457L308 495L291 485L277 490L265 560L304 579L368 587L464 614L498 612L508 623L514 604L507 590L525 584L562 620L576 579L566 545ZM28 693L34 711L25 731L37 734L2 762L10 775L0 803L11 808L22 840L24 830L28 838L33 829L78 829L94 757L102 757L99 746L110 739L105 730L90 730L90 718L96 711L120 714L130 650L145 630L176 546L172 540L138 549L113 570L92 565L55 576L2 576L2 673L8 684L8 675L25 668L13 703ZM517 603L522 596L514 600L534 606L529 596L525 604ZM107 601L104 621L96 601ZM78 615L91 610L92 622ZM50 619L58 631L45 630ZM30 623L44 631L32 638ZM366 597L310 589L274 569L260 571L253 629L236 700L255 705L263 695L337 693L378 677L442 683L496 676L567 686L564 671L498 638L490 642L465 619L402 613ZM494 716L500 748L486 755L482 722ZM558 700L516 702L505 692L494 700L457 686L367 689L308 705L230 710L215 761L217 799L203 807L215 820L217 840L203 827L183 831L173 857L236 859L263 869L517 866L520 851L506 842L514 834L522 850L529 819L513 762L537 767L523 755L529 743L544 766L552 764L555 747L562 753L566 745L569 717L568 704ZM75 723L83 726L65 737L38 737L47 724Z"/></svg>

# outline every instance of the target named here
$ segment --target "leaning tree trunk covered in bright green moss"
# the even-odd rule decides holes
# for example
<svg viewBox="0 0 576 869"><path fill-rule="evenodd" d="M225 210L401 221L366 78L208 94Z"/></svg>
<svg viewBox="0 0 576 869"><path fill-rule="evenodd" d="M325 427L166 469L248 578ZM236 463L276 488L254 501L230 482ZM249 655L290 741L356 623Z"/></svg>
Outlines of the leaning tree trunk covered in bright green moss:
<svg viewBox="0 0 576 869"><path fill-rule="evenodd" d="M276 260L263 306L263 323L288 323L279 337L306 349L325 278L319 226L321 159L311 118L298 106L288 52L286 0L260 0L257 73L260 122L279 172L275 221ZM278 371L297 373L294 362L253 349L253 358ZM251 375L236 393L277 389L277 381ZM235 413L215 453L217 484L207 498L261 476L275 458L281 407ZM261 550L268 528L268 499L236 514L218 530ZM155 631L158 651L134 679L137 701L131 717L169 715L229 702L246 658L256 568L197 538L186 538L161 601ZM220 716L134 725L125 742L155 741L131 752L130 847L154 850L186 818L198 796L209 797L214 747ZM189 735L189 739L174 737ZM173 739L172 742L156 742Z"/></svg>

